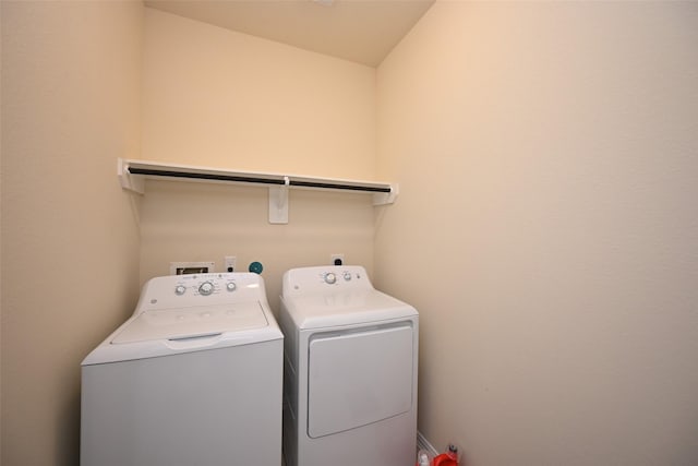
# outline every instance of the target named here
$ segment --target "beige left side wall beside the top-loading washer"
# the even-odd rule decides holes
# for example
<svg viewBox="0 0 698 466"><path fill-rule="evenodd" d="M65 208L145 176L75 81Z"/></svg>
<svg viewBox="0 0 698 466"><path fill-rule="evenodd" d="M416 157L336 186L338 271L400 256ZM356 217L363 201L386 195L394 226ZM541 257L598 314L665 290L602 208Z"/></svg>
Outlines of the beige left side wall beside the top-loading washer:
<svg viewBox="0 0 698 466"><path fill-rule="evenodd" d="M137 297L143 5L2 1L2 465L76 465L80 361Z"/></svg>

